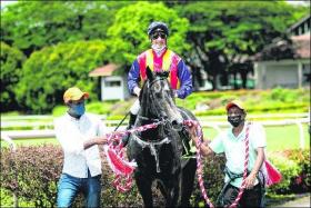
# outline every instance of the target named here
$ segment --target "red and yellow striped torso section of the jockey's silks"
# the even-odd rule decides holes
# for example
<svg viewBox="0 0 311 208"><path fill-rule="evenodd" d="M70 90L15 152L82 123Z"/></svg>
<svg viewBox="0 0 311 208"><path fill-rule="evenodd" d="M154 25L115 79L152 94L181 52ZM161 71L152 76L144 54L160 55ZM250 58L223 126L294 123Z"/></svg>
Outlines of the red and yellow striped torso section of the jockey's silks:
<svg viewBox="0 0 311 208"><path fill-rule="evenodd" d="M149 49L142 52L138 57L138 63L140 68L140 78L141 80L147 79L146 68L149 67L152 71L170 71L169 82L171 83L172 89L180 88L180 81L178 79L178 62L181 58L173 51L167 49L161 56L157 56L152 49Z"/></svg>

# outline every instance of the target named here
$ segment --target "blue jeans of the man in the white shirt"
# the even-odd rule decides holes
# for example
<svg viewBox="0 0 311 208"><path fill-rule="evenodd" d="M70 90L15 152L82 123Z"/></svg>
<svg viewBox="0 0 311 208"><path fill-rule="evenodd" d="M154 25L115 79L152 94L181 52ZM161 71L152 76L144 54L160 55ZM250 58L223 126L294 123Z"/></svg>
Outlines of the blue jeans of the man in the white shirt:
<svg viewBox="0 0 311 208"><path fill-rule="evenodd" d="M88 178L61 175L58 185L58 207L72 207L72 202L80 191L86 197L86 207L100 207L100 175L91 177L89 171L88 175Z"/></svg>

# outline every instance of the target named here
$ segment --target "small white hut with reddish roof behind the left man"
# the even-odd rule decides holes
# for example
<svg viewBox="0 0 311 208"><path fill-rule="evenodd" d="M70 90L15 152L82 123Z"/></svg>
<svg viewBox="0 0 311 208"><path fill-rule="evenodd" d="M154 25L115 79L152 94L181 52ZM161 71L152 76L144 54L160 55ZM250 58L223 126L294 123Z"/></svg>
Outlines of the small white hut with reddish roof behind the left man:
<svg viewBox="0 0 311 208"><path fill-rule="evenodd" d="M90 77L100 77L101 100L124 100L130 97L126 75L113 75L119 68L118 65L109 63L89 73Z"/></svg>

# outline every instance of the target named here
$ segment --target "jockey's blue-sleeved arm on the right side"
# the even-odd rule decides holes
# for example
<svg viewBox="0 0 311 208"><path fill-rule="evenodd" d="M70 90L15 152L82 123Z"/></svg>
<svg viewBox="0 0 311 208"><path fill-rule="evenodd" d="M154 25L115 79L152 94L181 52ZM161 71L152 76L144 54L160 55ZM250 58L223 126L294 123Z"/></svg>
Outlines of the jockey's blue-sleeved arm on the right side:
<svg viewBox="0 0 311 208"><path fill-rule="evenodd" d="M189 96L192 90L192 76L183 60L180 60L178 63L178 79L180 81L180 88L177 90L177 96L181 99L184 99Z"/></svg>

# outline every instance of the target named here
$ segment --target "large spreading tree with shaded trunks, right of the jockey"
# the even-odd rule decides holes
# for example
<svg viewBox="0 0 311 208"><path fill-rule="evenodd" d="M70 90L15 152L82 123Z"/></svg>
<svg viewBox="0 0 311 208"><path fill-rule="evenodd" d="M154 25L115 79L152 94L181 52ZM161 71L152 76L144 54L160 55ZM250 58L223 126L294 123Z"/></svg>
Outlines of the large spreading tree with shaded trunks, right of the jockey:
<svg viewBox="0 0 311 208"><path fill-rule="evenodd" d="M224 78L222 85L228 83L225 78L231 65L249 61L274 38L285 37L285 29L307 13L305 8L293 8L280 1L189 2L174 8L190 21L188 42L192 50L189 56L199 59L211 77L213 89L217 89L219 76ZM245 78L250 70L238 71Z"/></svg>

